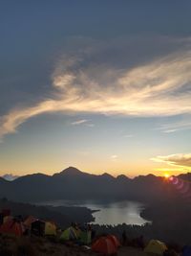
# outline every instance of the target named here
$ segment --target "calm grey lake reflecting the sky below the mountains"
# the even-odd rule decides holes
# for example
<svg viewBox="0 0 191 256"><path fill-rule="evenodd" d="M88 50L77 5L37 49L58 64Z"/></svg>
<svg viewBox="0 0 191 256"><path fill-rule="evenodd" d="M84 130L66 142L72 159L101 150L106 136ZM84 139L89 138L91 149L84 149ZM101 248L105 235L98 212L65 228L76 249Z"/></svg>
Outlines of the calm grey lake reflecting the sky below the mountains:
<svg viewBox="0 0 191 256"><path fill-rule="evenodd" d="M140 217L140 212L144 209L144 205L137 201L68 201L56 200L43 202L42 204L49 204L53 206L85 206L91 210L99 210L93 213L97 224L144 224L148 222Z"/></svg>

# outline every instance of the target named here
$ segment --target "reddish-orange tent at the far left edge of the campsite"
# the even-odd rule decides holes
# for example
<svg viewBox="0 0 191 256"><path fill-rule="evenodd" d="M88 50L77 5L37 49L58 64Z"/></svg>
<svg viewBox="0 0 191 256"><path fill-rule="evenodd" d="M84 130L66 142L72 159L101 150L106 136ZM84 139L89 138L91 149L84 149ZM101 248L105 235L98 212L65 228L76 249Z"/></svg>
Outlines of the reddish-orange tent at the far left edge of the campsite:
<svg viewBox="0 0 191 256"><path fill-rule="evenodd" d="M22 223L16 221L7 221L0 226L0 233L21 236L23 234Z"/></svg>

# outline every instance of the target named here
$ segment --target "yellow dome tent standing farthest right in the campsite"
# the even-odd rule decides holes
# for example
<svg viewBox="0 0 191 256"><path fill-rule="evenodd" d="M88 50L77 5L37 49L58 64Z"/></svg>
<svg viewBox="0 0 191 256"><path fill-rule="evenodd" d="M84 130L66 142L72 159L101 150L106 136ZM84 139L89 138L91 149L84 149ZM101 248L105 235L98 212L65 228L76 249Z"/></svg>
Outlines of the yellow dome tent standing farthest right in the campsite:
<svg viewBox="0 0 191 256"><path fill-rule="evenodd" d="M167 250L166 244L160 242L159 240L151 240L144 248L144 252L151 252L158 255L163 255L165 250Z"/></svg>

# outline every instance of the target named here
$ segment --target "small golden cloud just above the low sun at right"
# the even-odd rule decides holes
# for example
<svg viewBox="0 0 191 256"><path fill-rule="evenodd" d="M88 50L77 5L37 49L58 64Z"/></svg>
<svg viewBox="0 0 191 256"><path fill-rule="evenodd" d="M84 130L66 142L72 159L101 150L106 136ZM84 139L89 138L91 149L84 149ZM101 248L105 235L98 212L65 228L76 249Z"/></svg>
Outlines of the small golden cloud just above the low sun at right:
<svg viewBox="0 0 191 256"><path fill-rule="evenodd" d="M168 165L180 166L191 168L191 153L177 153L166 156L157 156L151 158L151 160L160 163L167 163Z"/></svg>

